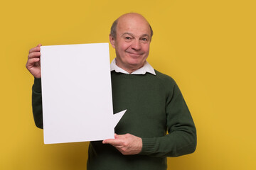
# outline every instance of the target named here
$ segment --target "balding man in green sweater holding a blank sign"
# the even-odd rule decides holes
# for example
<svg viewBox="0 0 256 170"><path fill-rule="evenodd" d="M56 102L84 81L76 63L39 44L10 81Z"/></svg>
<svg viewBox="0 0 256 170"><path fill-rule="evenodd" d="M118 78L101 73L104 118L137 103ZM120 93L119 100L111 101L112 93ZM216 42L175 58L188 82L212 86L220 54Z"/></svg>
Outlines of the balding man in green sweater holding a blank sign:
<svg viewBox="0 0 256 170"><path fill-rule="evenodd" d="M127 108L127 113L115 128L114 139L90 142L87 169L166 169L166 157L196 149L196 128L181 91L171 77L146 62L152 35L138 13L124 14L112 25L113 108L114 113ZM26 67L35 77L33 116L43 128L40 46L29 51Z"/></svg>

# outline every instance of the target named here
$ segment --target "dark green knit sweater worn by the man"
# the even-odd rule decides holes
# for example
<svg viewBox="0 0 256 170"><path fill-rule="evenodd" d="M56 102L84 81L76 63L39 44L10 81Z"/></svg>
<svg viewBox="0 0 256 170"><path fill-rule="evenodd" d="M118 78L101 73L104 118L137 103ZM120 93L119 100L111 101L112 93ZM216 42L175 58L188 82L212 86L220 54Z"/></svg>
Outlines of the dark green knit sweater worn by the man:
<svg viewBox="0 0 256 170"><path fill-rule="evenodd" d="M102 141L90 142L88 170L161 170L167 168L166 157L195 151L196 128L181 91L174 79L155 72L111 72L114 113L127 109L114 131L142 137L142 152L124 156ZM36 126L43 128L41 79L35 79L32 97Z"/></svg>

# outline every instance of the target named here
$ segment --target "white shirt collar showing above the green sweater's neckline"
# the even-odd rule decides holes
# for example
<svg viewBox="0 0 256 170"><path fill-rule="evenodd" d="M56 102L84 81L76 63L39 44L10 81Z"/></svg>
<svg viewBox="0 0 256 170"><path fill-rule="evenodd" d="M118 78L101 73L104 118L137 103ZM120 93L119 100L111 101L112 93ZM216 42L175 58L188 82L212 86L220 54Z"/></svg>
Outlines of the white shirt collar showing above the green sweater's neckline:
<svg viewBox="0 0 256 170"><path fill-rule="evenodd" d="M112 60L112 62L110 64L110 71L113 71L113 70L115 72L121 72L121 73L124 73L124 74L129 74L129 72L127 72L124 69L121 69L120 67L117 66L115 58L114 58L114 60ZM135 70L131 74L146 74L146 72L149 72L150 74L156 75L156 73L154 72L153 67L151 67L151 65L148 62L145 62L144 66L142 68L139 68L139 69Z"/></svg>

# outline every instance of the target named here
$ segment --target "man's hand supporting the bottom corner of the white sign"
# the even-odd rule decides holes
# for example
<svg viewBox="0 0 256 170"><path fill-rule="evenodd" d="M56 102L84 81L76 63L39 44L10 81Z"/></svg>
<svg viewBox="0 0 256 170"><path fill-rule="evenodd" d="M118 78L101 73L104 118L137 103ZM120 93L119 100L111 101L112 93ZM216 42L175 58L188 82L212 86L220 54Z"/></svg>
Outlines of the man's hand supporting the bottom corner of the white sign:
<svg viewBox="0 0 256 170"><path fill-rule="evenodd" d="M129 133L125 135L114 134L114 139L103 140L103 144L110 144L124 155L139 154L142 151L142 138Z"/></svg>

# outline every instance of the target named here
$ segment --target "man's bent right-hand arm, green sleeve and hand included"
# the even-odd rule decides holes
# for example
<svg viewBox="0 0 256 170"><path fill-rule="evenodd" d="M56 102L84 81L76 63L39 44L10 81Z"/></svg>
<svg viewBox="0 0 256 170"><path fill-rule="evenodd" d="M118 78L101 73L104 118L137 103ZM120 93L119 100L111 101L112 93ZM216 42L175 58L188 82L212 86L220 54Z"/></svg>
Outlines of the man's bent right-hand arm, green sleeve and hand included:
<svg viewBox="0 0 256 170"><path fill-rule="evenodd" d="M196 149L196 127L176 83L166 100L166 126L169 134L163 137L140 138L126 134L103 143L116 147L122 154L178 157L193 153Z"/></svg>

